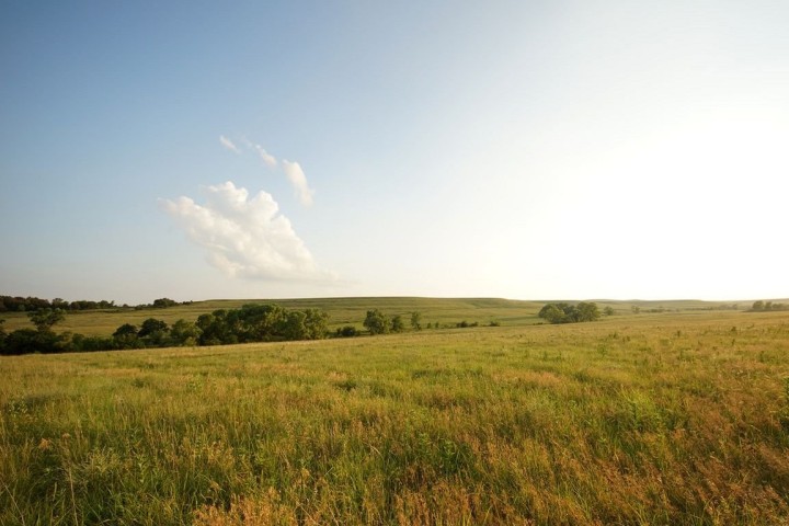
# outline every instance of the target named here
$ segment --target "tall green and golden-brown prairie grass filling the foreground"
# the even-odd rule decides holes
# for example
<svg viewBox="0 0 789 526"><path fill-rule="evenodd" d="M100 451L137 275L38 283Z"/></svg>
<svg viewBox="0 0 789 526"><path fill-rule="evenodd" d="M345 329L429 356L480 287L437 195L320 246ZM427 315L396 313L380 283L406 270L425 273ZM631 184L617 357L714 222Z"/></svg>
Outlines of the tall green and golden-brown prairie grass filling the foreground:
<svg viewBox="0 0 789 526"><path fill-rule="evenodd" d="M787 524L789 317L0 359L0 524Z"/></svg>

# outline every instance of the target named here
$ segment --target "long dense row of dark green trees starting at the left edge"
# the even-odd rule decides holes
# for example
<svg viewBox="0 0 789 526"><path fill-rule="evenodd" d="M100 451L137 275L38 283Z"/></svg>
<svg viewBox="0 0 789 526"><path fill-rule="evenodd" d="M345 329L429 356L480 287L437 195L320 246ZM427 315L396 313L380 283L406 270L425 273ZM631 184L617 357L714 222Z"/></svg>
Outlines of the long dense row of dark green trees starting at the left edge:
<svg viewBox="0 0 789 526"><path fill-rule="evenodd" d="M139 327L124 323L112 336L56 334L54 325L65 319L62 309L42 309L27 315L35 329L7 333L0 320L0 354L68 353L226 345L250 342L320 340L329 334L329 315L319 309L287 310L278 305L249 304L219 309L196 321L178 320L169 325L148 318Z"/></svg>

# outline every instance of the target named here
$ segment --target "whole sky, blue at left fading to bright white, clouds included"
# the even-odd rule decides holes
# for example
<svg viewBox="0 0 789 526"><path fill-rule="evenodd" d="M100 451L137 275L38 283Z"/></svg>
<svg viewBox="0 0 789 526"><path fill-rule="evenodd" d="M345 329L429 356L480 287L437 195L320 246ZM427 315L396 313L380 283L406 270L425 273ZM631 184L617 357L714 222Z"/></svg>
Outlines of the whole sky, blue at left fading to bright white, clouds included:
<svg viewBox="0 0 789 526"><path fill-rule="evenodd" d="M789 2L0 4L0 294L789 297Z"/></svg>

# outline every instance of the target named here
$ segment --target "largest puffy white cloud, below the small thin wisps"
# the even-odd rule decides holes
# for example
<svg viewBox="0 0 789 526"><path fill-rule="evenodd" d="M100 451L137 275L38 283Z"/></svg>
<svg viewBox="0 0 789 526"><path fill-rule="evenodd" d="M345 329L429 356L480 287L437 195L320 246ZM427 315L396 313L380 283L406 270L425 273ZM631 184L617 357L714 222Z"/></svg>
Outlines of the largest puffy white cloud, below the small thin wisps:
<svg viewBox="0 0 789 526"><path fill-rule="evenodd" d="M162 207L208 251L211 265L236 277L333 281L318 267L290 221L266 192L250 198L228 181L207 186L205 205L190 197L161 199Z"/></svg>

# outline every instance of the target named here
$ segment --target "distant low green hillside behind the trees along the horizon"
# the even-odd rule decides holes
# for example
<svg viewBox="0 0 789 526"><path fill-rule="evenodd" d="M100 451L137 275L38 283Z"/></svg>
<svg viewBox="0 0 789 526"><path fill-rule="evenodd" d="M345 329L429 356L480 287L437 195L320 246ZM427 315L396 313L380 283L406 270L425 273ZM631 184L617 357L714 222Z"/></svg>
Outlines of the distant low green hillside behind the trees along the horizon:
<svg viewBox="0 0 789 526"><path fill-rule="evenodd" d="M124 323L139 324L148 318L164 320L169 324L183 318L194 321L199 315L216 309L239 308L251 302L274 302L288 309L319 308L329 312L332 329L351 324L362 329L362 321L368 309L380 309L388 315L402 315L408 323L410 312L422 312L423 324L436 322L441 324L455 324L460 321L488 324L499 321L502 325L525 325L538 323L537 312L546 301L517 301L495 298L318 298L318 299L243 299L243 300L208 300L195 301L191 305L180 305L167 309L142 310L106 310L106 311L78 311L70 312L66 320L56 325L57 332L71 331L85 335L106 336L112 334ZM718 309L721 306L730 307L732 302L707 302L697 300L673 301L609 301L597 300L601 309L610 306L617 316L632 313L632 308L642 310L641 316L648 316L649 310L664 309L667 311L699 311ZM737 305L742 310L750 307L748 302ZM23 312L0 312L0 319L5 319L5 329L13 331L22 328L32 328L33 324Z"/></svg>

